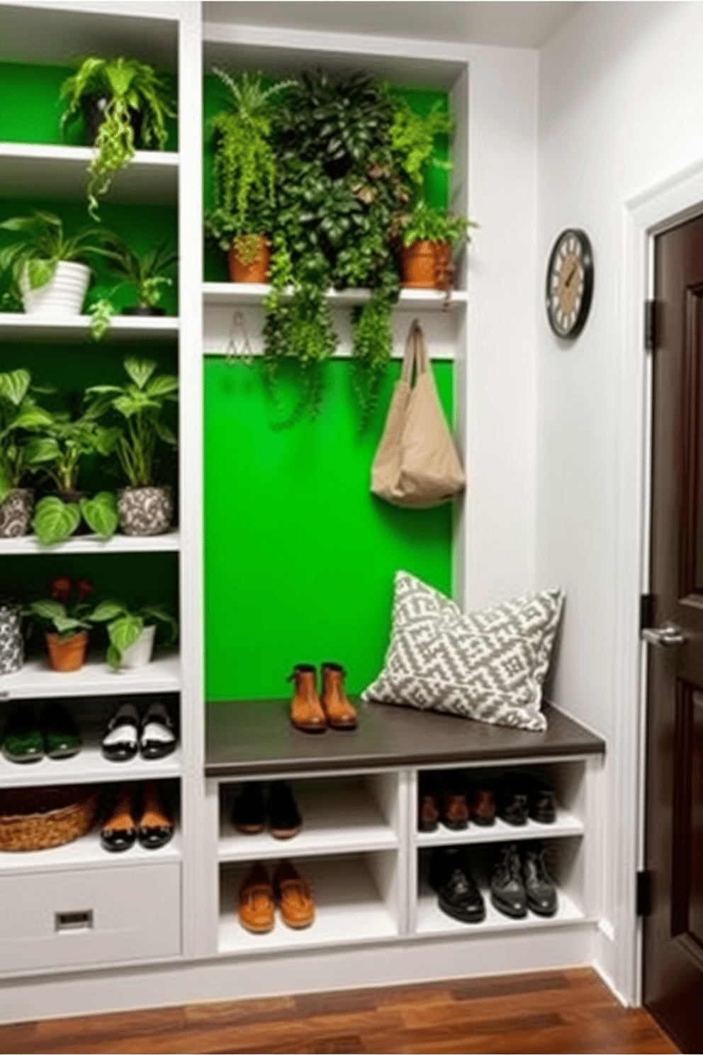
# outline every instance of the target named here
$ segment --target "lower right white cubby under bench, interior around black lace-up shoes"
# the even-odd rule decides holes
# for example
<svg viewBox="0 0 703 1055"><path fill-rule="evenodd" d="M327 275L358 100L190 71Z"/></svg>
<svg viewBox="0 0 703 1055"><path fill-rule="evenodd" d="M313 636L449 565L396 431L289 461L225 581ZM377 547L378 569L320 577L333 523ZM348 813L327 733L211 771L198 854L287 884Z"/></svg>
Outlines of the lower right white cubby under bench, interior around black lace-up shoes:
<svg viewBox="0 0 703 1055"><path fill-rule="evenodd" d="M502 842L511 842L504 839ZM525 843L516 843L519 853L524 852ZM545 927L586 920L583 907L584 846L583 840L559 838L544 841L547 870L556 886L558 908L554 916L538 916L528 909L522 919L512 919L493 906L490 899L491 867L499 845L494 843L468 846L467 860L471 876L483 895L486 918L481 923L462 923L447 916L437 905L436 893L429 884L429 869L432 850L417 851L417 904L414 933L432 934L485 934L486 931L502 931L510 927Z"/></svg>

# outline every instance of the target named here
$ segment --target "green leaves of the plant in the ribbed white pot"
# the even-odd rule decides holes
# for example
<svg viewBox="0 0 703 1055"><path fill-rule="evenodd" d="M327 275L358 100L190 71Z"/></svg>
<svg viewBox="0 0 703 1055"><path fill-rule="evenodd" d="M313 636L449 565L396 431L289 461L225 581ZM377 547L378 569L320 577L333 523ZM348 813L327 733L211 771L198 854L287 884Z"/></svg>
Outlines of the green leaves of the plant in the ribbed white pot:
<svg viewBox="0 0 703 1055"><path fill-rule="evenodd" d="M8 272L11 288L21 298L22 285L38 289L54 277L60 261L77 261L91 266L94 256L106 254L106 232L90 225L74 234L64 234L61 219L51 212L34 210L31 216L12 216L0 230L15 236L0 250L0 273Z"/></svg>

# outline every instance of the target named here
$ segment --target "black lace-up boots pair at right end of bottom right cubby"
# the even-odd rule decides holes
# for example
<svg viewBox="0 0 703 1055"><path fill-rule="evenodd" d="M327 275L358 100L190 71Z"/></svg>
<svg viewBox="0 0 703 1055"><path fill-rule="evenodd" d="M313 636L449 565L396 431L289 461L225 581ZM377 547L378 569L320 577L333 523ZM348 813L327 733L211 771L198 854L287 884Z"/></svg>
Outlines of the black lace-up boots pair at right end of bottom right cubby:
<svg viewBox="0 0 703 1055"><path fill-rule="evenodd" d="M556 912L556 887L545 862L541 843L526 843L523 856L515 843L499 847L491 874L491 903L504 916L523 919L527 909L538 916Z"/></svg>

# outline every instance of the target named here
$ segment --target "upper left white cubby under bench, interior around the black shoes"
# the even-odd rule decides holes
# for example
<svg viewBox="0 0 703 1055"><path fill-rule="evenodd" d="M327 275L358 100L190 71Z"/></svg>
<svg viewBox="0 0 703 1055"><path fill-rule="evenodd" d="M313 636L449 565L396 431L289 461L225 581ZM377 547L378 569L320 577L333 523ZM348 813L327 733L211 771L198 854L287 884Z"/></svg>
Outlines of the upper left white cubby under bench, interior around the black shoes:
<svg viewBox="0 0 703 1055"><path fill-rule="evenodd" d="M397 781L394 772L287 781L301 818L300 830L290 839L271 835L268 810L263 831L257 835L238 831L232 812L245 783L222 784L219 860L393 849L398 846L401 836ZM258 783L266 802L271 782Z"/></svg>

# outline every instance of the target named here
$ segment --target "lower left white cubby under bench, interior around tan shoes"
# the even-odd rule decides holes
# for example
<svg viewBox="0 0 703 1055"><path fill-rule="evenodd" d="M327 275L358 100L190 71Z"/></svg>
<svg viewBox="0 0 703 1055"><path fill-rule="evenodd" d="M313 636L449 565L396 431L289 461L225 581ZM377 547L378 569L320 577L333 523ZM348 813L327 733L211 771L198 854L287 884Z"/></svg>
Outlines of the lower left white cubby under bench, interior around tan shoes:
<svg viewBox="0 0 703 1055"><path fill-rule="evenodd" d="M281 844L279 858L289 857ZM220 865L220 953L260 953L315 945L349 945L395 938L403 929L403 863L395 850L296 858L293 864L311 884L315 919L292 929L276 909L268 934L252 934L239 922L239 887L252 861ZM266 863L269 878L276 862Z"/></svg>

